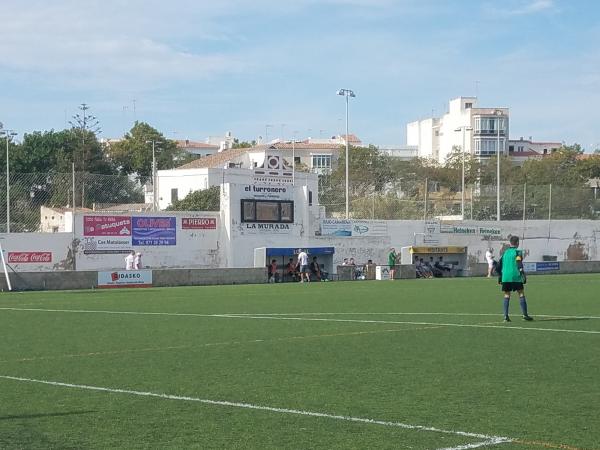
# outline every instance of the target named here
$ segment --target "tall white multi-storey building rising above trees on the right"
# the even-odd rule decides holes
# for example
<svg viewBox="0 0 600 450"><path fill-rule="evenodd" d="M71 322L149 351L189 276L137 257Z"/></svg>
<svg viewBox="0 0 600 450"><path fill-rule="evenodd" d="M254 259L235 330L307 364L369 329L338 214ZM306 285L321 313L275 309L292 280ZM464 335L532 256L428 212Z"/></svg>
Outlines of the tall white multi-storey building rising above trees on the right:
<svg viewBox="0 0 600 450"><path fill-rule="evenodd" d="M411 122L406 126L406 143L417 146L422 158L443 163L453 148L463 148L480 158L507 154L508 108L479 108L477 97L450 100L442 117Z"/></svg>

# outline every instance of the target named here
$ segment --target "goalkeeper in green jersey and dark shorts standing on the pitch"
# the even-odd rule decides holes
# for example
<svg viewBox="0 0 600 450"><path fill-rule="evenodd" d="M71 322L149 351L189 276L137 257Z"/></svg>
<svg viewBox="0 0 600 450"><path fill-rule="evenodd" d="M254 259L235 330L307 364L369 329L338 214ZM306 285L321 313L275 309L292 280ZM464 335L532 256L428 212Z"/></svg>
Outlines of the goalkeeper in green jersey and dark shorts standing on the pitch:
<svg viewBox="0 0 600 450"><path fill-rule="evenodd" d="M498 283L502 285L502 292L504 292L504 321L510 322L508 305L510 303L510 293L513 291L519 294L523 320L533 320L533 317L527 313L524 286L527 283L527 276L523 270L523 252L519 250L518 236L510 237L510 247L504 251L502 258L498 261L496 270L498 272Z"/></svg>

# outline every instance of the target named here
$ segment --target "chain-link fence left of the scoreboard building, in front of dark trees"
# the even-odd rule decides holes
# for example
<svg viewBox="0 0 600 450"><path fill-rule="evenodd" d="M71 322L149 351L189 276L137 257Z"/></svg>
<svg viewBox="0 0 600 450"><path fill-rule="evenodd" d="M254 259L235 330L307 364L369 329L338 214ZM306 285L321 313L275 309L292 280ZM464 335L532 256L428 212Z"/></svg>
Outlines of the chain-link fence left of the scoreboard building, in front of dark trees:
<svg viewBox="0 0 600 450"><path fill-rule="evenodd" d="M100 210L144 203L143 187L119 175L11 173L8 186L6 175L0 176L0 186L0 232L64 231L59 218L73 207Z"/></svg>

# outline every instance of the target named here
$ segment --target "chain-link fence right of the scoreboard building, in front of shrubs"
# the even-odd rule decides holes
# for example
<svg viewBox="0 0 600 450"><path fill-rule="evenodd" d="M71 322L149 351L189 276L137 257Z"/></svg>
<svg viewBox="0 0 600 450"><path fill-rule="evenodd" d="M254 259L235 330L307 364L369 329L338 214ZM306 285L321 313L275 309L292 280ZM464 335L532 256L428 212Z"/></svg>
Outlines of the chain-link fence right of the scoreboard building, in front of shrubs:
<svg viewBox="0 0 600 450"><path fill-rule="evenodd" d="M320 187L319 203L325 207L327 217L344 218L344 186ZM435 180L404 181L379 192L357 193L350 189L349 211L355 219L496 220L497 198L496 186L466 186L463 195L460 187L448 188ZM599 213L600 195L597 198L593 188L528 184L500 187L501 220L596 219Z"/></svg>

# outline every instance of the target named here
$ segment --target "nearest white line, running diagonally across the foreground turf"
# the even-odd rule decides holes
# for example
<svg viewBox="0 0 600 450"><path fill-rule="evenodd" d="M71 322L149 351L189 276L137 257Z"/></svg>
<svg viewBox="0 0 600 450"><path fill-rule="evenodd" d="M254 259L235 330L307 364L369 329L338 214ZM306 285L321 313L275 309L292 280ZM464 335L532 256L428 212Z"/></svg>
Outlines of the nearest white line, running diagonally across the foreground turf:
<svg viewBox="0 0 600 450"><path fill-rule="evenodd" d="M477 439L485 439L489 444L494 442L495 444L500 444L503 442L512 442L512 438L502 437L502 436L488 436L480 433L469 433L467 431L456 431L456 430L444 430L442 428L428 427L424 425L411 425L402 422L390 422L385 420L375 420L368 419L364 417L353 417L353 416L342 416L338 414L328 414L316 411L305 411L301 409L288 409L288 408L277 408L273 406L262 406L262 405L254 405L251 403L240 403L240 402L231 402L226 400L209 400L198 397L187 397L180 395L170 395L170 394L160 394L155 392L144 392L144 391L134 391L130 389L117 389L117 388L107 388L100 386L88 386L85 384L72 384L72 383L63 383L59 381L48 381L48 380L37 380L35 378L23 378L23 377L13 377L9 375L0 375L0 378L5 380L13 380L13 381L23 381L28 383L38 383L38 384L46 384L50 386L61 386L75 389L86 389L89 391L100 391L100 392L109 392L112 394L129 394L129 395L138 395L142 397L155 397L162 398L167 400L181 400L187 402L198 402L206 405L217 405L217 406L230 406L234 408L244 408L244 409L253 409L259 411L269 411L276 412L281 414L295 414L299 416L309 416L309 417L320 417L324 419L333 419L333 420L343 420L347 422L356 422L356 423L366 423L371 425L383 425L386 427L395 427L395 428L403 428L406 430L417 430L417 431L429 431L432 433L440 433L440 434L451 434L455 436L464 436L470 438ZM455 447L459 448L474 448L474 447Z"/></svg>

